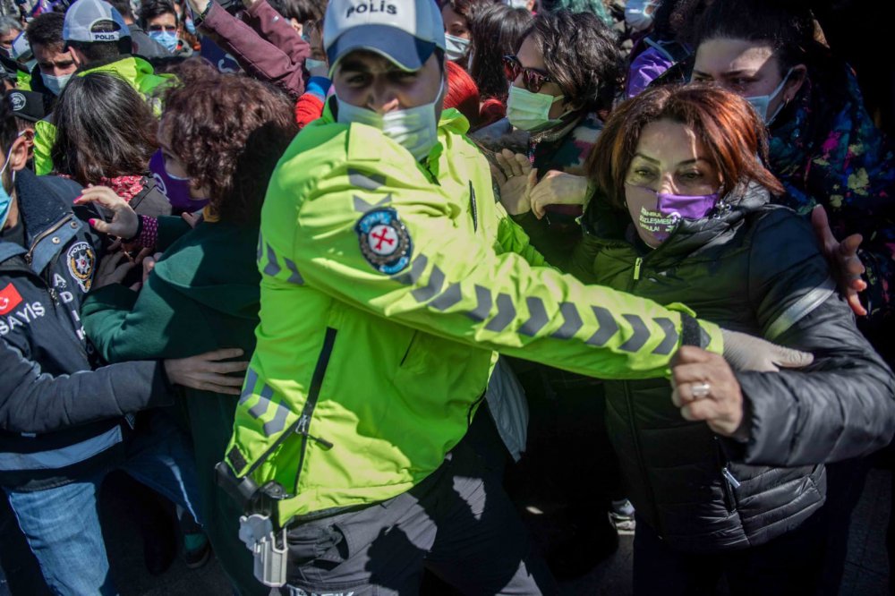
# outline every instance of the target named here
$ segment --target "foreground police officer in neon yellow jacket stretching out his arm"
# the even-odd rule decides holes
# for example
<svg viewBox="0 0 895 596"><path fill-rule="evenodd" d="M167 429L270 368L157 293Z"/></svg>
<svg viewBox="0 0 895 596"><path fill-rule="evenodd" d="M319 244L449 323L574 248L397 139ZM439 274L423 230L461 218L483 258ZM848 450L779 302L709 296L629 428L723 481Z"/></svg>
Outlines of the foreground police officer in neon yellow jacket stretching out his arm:
<svg viewBox="0 0 895 596"><path fill-rule="evenodd" d="M441 113L433 6L329 3L336 98L286 150L262 210L258 344L226 473L247 513L267 513L262 492L272 503L305 592L409 591L424 563L463 592L552 592L516 516L493 513L511 508L499 481L461 481L497 353L641 379L667 376L682 343L724 347L684 306L545 265L495 202L465 118ZM454 500L479 522L437 513ZM258 550L280 540L244 530ZM413 548L386 538L402 532Z"/></svg>

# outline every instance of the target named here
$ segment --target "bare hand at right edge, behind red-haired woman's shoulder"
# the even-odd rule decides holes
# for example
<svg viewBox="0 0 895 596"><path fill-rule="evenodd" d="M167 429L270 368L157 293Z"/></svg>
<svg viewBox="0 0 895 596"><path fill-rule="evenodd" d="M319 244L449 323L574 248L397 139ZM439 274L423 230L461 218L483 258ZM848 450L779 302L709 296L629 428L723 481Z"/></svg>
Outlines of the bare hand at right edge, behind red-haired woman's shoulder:
<svg viewBox="0 0 895 596"><path fill-rule="evenodd" d="M867 314L867 310L861 304L858 293L867 289L867 283L861 279L865 272L864 264L857 256L857 249L864 241L861 234L852 234L841 243L836 240L830 229L826 209L818 205L811 212L811 225L814 234L821 242L823 256L830 262L833 277L840 288L840 294L848 302L848 306L860 317Z"/></svg>

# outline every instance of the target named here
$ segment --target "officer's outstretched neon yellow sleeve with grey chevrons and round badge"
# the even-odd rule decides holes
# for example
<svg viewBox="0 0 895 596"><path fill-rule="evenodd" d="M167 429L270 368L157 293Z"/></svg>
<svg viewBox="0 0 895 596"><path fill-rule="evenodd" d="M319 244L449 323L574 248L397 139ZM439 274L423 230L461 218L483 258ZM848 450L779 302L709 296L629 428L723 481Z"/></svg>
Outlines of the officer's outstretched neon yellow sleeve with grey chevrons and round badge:
<svg viewBox="0 0 895 596"><path fill-rule="evenodd" d="M290 175L313 167L302 157L268 189L259 246L268 289L306 285L437 336L606 379L668 375L685 332L722 350L720 329L683 306L498 254L495 234L463 225L466 198L422 172L383 171L382 160Z"/></svg>

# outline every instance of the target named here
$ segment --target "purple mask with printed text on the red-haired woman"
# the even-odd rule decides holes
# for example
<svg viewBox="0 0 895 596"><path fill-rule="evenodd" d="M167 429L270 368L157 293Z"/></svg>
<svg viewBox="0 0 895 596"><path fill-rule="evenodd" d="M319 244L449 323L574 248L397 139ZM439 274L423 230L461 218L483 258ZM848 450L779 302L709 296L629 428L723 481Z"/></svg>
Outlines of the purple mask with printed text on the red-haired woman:
<svg viewBox="0 0 895 596"><path fill-rule="evenodd" d="M625 198L637 233L644 243L655 248L668 240L681 219L703 219L708 216L718 202L718 193L670 194L629 185Z"/></svg>

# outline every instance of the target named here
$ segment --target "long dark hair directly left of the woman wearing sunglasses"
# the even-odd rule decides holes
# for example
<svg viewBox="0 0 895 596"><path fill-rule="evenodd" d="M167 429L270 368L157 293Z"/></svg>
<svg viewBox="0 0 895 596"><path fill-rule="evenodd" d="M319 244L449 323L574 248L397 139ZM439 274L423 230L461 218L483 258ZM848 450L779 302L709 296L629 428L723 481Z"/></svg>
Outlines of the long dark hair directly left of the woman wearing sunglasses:
<svg viewBox="0 0 895 596"><path fill-rule="evenodd" d="M469 73L479 87L482 98L507 100L507 75L503 57L512 54L523 32L532 21L532 13L506 4L488 6L475 14L470 23L474 60Z"/></svg>

